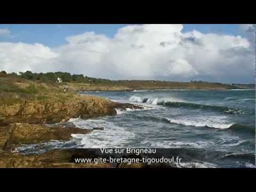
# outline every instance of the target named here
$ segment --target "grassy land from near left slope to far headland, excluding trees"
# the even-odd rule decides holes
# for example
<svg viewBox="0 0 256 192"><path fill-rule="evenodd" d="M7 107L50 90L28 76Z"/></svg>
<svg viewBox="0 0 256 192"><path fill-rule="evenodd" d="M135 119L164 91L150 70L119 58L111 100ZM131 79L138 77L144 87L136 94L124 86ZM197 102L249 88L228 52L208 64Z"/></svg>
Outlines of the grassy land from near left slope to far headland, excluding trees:
<svg viewBox="0 0 256 192"><path fill-rule="evenodd" d="M68 85L64 93L61 86ZM206 82L162 82L162 81L115 81L114 84L93 83L44 83L29 81L21 77L0 75L0 105L12 105L24 101L59 101L65 102L78 97L76 91L128 91L140 89L253 89L248 85L227 85Z"/></svg>

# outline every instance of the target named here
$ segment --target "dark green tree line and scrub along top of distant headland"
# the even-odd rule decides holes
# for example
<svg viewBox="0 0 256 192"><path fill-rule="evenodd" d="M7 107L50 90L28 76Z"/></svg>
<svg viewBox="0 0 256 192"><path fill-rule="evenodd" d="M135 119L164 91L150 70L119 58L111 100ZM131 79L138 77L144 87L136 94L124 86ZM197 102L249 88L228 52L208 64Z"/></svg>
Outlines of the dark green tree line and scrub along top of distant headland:
<svg viewBox="0 0 256 192"><path fill-rule="evenodd" d="M63 83L75 84L77 86L122 86L126 89L254 89L254 84L222 84L222 83L209 83L203 81L191 81L191 82L167 82L167 81L154 81L154 80L119 80L111 81L103 78L87 77L82 74L71 75L66 72L55 72L55 73L32 73L26 71L25 73L20 72L19 75L15 73L7 74L5 71L0 72L1 76L21 77L24 79L45 82L55 84L57 78L61 78Z"/></svg>

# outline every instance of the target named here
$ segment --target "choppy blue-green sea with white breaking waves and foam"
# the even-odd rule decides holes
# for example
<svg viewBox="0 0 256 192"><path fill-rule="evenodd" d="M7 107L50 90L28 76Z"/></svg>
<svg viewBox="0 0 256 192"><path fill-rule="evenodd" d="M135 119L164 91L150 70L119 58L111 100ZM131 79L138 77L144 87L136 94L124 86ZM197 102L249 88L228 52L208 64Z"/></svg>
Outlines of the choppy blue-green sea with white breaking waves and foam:
<svg viewBox="0 0 256 192"><path fill-rule="evenodd" d="M145 106L116 116L70 119L81 129L71 141L18 148L43 153L54 148L172 148L206 167L255 167L255 90L145 90L81 92Z"/></svg>

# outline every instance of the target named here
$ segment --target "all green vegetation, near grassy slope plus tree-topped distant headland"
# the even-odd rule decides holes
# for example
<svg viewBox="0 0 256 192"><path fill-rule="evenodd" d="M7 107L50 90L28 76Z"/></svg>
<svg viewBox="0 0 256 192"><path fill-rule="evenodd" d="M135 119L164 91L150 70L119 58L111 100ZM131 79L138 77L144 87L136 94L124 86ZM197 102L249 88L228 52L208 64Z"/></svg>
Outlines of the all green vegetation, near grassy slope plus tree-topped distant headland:
<svg viewBox="0 0 256 192"><path fill-rule="evenodd" d="M57 83L57 78L62 83ZM63 92L63 86L68 86L69 91ZM65 102L76 97L76 91L129 91L153 89L255 89L254 84L222 84L203 81L167 82L143 80L119 80L93 78L84 75L71 75L70 73L32 73L26 71L7 74L0 72L0 105L33 101L60 101Z"/></svg>

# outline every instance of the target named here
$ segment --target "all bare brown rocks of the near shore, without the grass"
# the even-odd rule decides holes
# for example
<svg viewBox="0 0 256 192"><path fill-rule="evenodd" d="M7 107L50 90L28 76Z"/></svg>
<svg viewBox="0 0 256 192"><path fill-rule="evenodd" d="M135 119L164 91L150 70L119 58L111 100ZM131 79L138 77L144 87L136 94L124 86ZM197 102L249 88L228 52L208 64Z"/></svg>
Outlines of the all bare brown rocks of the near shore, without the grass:
<svg viewBox="0 0 256 192"><path fill-rule="evenodd" d="M143 106L80 95L74 95L66 102L26 101L3 105L0 107L0 167L114 167L108 163L67 163L77 153L75 150L51 150L44 154L24 155L16 153L14 149L24 144L70 140L72 133L90 133L93 130L79 129L65 123L64 126L63 122L70 118L116 115L115 109L126 108L142 109ZM104 127L94 129L102 130Z"/></svg>

